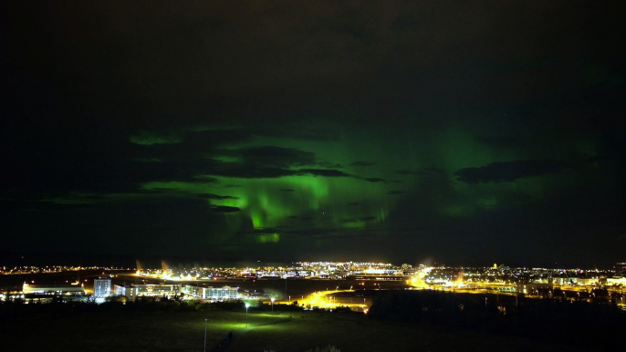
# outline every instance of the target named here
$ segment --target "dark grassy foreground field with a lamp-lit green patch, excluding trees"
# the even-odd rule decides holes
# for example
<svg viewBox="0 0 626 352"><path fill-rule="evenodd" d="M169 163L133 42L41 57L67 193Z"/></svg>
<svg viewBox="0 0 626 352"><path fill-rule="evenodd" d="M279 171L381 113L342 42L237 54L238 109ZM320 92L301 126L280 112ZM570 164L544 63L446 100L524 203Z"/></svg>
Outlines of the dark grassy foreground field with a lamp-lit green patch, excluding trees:
<svg viewBox="0 0 626 352"><path fill-rule="evenodd" d="M2 307L2 351L207 351L232 331L228 351L306 351L333 345L350 351L552 351L557 345L441 327L372 320L357 313L282 311L235 306L185 311L170 306L56 304ZM282 307L277 306L276 311ZM576 348L568 347L568 351Z"/></svg>

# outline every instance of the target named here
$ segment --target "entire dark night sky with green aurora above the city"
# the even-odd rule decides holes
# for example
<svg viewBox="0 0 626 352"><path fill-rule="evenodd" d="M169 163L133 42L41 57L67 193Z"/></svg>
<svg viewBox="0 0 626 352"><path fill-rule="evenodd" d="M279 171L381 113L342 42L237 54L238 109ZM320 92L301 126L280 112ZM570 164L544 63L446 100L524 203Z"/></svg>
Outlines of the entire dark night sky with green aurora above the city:
<svg viewBox="0 0 626 352"><path fill-rule="evenodd" d="M597 1L3 2L4 253L626 260Z"/></svg>

